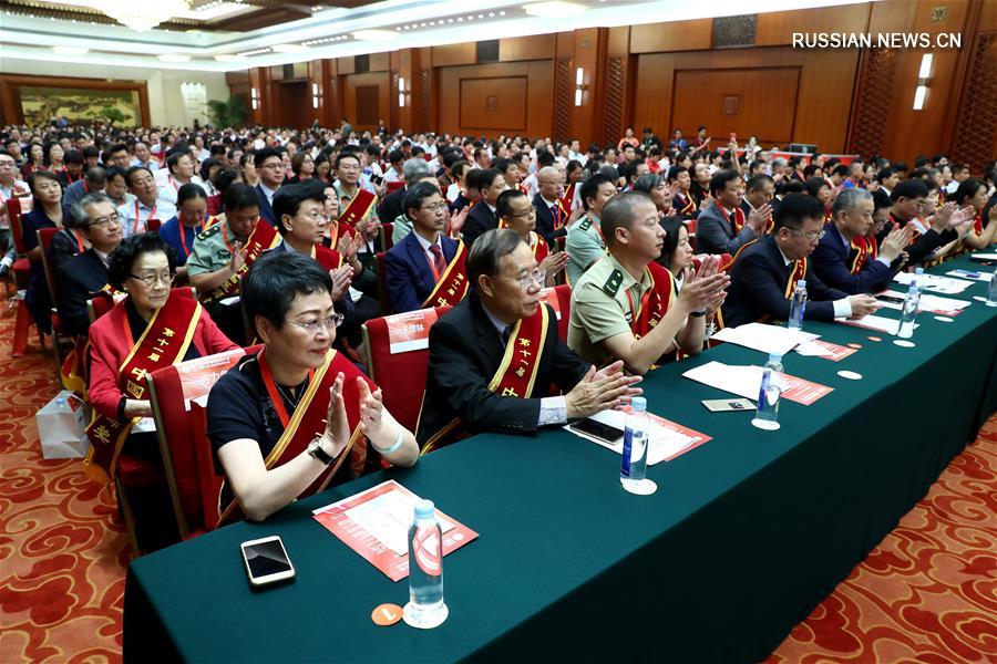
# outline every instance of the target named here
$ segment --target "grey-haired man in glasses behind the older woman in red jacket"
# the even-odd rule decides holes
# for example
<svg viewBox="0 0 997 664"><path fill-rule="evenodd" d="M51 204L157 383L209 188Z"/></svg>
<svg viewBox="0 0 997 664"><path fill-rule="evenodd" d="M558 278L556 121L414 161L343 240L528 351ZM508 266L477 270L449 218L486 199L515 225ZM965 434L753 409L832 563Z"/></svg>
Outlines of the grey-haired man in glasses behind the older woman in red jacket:
<svg viewBox="0 0 997 664"><path fill-rule="evenodd" d="M102 191L84 196L71 208L76 230L90 249L59 268L59 317L71 335L85 335L90 329L86 300L107 288L110 255L121 243L121 216Z"/></svg>

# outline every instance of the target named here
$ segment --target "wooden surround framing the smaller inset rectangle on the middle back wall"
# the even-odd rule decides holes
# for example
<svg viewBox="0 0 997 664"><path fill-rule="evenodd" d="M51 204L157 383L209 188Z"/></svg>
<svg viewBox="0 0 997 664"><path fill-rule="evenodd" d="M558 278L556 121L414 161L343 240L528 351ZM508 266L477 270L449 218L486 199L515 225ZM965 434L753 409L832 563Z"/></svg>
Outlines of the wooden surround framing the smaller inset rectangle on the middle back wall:
<svg viewBox="0 0 997 664"><path fill-rule="evenodd" d="M435 50L434 50L435 51ZM507 123L494 128L481 131L477 127L466 127L462 120L461 90L469 82L501 79L525 77L525 128L520 128L523 121L516 114ZM494 64L477 64L470 66L449 66L436 70L438 82L438 133L484 134L497 136L498 134L526 134L528 136L549 136L551 122L554 116L553 86L554 71L549 61L532 62L502 62ZM470 83L472 86L475 83ZM485 85L487 87L487 85ZM474 116L472 115L472 118ZM475 121L476 122L476 121Z"/></svg>

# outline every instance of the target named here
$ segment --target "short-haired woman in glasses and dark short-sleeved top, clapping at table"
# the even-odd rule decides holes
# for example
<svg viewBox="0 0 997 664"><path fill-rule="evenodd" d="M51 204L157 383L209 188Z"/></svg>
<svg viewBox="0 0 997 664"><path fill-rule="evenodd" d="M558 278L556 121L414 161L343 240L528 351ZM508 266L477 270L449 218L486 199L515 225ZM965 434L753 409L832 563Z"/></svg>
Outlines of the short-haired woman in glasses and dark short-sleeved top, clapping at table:
<svg viewBox="0 0 997 664"><path fill-rule="evenodd" d="M243 280L246 314L265 347L208 397L207 435L225 475L223 522L266 519L361 474L368 457L412 466L419 456L377 385L331 349L342 322L332 288L316 261L290 251L263 257Z"/></svg>

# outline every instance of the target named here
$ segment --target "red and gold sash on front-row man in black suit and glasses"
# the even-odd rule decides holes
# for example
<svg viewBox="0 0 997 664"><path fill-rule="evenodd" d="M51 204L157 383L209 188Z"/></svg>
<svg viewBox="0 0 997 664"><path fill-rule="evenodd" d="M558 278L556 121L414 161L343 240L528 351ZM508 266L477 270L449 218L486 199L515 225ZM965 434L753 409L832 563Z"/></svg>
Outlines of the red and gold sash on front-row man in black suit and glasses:
<svg viewBox="0 0 997 664"><path fill-rule="evenodd" d="M489 382L489 392L500 396L530 398L539 369L539 359L544 354L548 324L549 313L543 302L533 315L516 322L505 345L502 362ZM429 454L467 435L470 432L462 426L461 419L454 417L425 442L421 454Z"/></svg>

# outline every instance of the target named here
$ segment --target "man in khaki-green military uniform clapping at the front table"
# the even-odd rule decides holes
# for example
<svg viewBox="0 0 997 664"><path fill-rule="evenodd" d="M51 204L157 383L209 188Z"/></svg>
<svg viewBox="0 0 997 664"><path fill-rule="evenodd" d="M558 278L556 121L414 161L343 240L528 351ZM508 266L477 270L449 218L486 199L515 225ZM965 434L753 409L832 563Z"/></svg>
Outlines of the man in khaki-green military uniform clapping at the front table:
<svg viewBox="0 0 997 664"><path fill-rule="evenodd" d="M705 317L723 302L730 281L719 272L719 260L707 257L698 272L685 276L679 291L671 273L655 262L665 229L654 200L628 191L602 211L609 253L572 290L568 347L596 366L623 360L637 374L676 350L698 353Z"/></svg>

